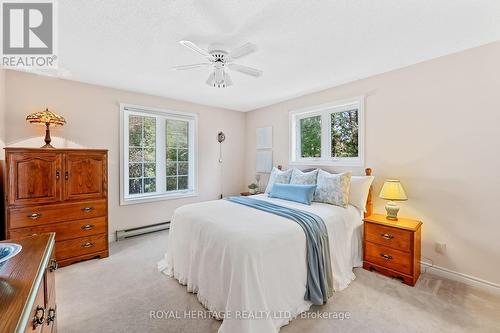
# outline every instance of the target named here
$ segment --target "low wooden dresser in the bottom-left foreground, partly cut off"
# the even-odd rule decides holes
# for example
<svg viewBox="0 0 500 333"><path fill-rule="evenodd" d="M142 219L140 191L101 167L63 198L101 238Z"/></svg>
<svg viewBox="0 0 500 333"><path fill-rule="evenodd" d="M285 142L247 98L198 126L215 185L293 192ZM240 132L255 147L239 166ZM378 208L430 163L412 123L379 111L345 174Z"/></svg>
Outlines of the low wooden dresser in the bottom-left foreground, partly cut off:
<svg viewBox="0 0 500 333"><path fill-rule="evenodd" d="M23 248L0 264L0 332L57 331L54 238L50 233L8 241Z"/></svg>

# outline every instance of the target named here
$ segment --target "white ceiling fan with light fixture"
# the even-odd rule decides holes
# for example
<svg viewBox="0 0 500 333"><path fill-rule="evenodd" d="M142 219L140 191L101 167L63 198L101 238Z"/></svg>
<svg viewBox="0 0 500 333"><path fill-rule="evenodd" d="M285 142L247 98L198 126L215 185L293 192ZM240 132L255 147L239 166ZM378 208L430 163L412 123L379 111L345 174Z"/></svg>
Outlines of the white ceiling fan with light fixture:
<svg viewBox="0 0 500 333"><path fill-rule="evenodd" d="M247 74L254 77L259 77L262 75L262 71L243 66L239 64L235 64L233 62L234 59L242 58L252 52L257 50L257 47L252 43L246 43L231 52L222 50L220 48L214 48L212 50L205 51L198 45L193 42L187 40L181 40L179 42L181 45L187 47L188 49L201 54L202 56L207 58L207 62L192 64L192 65L183 65L183 66L174 66L172 69L174 70L187 70L194 68L209 68L210 75L206 83L209 86L216 88L225 88L229 87L233 84L231 77L229 76L228 69L233 71L238 71L243 74Z"/></svg>

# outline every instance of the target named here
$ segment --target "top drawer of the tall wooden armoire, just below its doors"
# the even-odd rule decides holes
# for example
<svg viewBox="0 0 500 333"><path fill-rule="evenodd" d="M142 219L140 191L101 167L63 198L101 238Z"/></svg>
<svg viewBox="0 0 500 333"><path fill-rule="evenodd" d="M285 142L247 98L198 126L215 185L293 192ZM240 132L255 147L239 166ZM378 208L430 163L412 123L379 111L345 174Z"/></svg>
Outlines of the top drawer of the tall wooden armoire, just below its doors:
<svg viewBox="0 0 500 333"><path fill-rule="evenodd" d="M10 228L34 227L43 224L106 216L106 200L71 204L9 208Z"/></svg>

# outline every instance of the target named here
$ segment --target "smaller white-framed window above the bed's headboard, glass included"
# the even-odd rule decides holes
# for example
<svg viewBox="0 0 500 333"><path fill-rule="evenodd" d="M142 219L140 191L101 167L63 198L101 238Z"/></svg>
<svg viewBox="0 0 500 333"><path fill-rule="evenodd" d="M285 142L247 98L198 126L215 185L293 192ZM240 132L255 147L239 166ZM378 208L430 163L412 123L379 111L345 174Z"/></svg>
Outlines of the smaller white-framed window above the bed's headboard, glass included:
<svg viewBox="0 0 500 333"><path fill-rule="evenodd" d="M363 98L290 112L292 164L362 166Z"/></svg>

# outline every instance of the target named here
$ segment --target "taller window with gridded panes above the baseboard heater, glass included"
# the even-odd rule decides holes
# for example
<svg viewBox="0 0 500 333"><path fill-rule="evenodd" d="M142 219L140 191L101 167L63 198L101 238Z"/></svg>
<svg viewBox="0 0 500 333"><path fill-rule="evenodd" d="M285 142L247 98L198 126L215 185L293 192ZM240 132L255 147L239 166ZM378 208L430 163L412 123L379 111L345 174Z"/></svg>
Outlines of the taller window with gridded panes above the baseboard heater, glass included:
<svg viewBox="0 0 500 333"><path fill-rule="evenodd" d="M121 204L196 194L195 114L120 105Z"/></svg>

